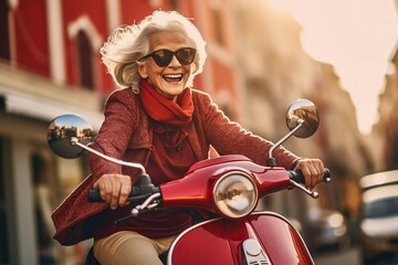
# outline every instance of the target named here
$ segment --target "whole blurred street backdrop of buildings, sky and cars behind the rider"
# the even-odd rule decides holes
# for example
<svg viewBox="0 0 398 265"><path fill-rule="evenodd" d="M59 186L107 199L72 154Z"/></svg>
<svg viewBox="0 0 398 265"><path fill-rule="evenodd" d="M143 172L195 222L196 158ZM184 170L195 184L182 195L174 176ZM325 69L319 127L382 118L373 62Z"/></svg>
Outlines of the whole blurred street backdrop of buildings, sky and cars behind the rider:
<svg viewBox="0 0 398 265"><path fill-rule="evenodd" d="M284 146L321 158L333 182L316 188L318 200L291 190L259 208L289 218L317 264L394 261L398 1L348 2L0 0L0 264L84 263L92 242L61 246L51 212L90 173L87 161L55 157L46 129L66 113L100 128L117 87L98 50L117 25L157 9L192 18L209 55L195 87L247 129L276 141L293 100L318 107L315 136Z"/></svg>

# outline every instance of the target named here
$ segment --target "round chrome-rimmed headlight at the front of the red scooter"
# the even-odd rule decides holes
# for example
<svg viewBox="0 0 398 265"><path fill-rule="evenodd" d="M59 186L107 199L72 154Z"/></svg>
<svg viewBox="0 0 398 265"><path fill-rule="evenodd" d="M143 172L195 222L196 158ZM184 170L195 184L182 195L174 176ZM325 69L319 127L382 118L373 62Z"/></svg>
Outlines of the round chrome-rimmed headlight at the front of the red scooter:
<svg viewBox="0 0 398 265"><path fill-rule="evenodd" d="M229 218L241 218L253 211L258 190L254 181L242 173L221 177L213 189L213 199L220 212Z"/></svg>

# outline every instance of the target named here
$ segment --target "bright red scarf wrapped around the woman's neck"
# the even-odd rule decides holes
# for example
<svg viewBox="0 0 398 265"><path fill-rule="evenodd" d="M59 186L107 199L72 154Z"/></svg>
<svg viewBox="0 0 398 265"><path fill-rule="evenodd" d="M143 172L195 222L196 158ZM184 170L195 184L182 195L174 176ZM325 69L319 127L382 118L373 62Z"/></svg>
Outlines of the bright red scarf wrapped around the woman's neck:
<svg viewBox="0 0 398 265"><path fill-rule="evenodd" d="M159 123L184 126L192 120L195 107L190 88L185 88L175 103L159 95L148 81L142 80L139 96L144 109Z"/></svg>

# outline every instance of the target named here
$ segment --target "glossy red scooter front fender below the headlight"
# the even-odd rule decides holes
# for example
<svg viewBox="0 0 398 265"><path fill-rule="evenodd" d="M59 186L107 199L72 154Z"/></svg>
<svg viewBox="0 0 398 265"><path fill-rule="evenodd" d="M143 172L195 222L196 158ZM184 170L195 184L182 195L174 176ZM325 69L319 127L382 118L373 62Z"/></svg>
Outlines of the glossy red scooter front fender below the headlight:
<svg viewBox="0 0 398 265"><path fill-rule="evenodd" d="M168 265L244 265L244 242L263 252L253 264L314 264L298 232L283 216L256 212L240 220L214 219L184 231L170 246Z"/></svg>

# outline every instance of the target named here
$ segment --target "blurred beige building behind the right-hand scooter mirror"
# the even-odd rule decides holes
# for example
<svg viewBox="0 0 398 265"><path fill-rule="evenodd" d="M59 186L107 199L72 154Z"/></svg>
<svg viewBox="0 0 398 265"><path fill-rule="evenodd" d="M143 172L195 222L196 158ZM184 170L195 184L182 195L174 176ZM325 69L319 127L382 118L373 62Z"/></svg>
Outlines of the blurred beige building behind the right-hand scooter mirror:
<svg viewBox="0 0 398 265"><path fill-rule="evenodd" d="M301 45L301 25L271 1L233 2L234 26L243 74L243 123L271 140L286 132L286 107L305 97L320 109L318 131L310 139L289 139L284 146L302 157L318 157L333 172L314 201L303 193L277 193L268 200L275 211L304 221L308 208L326 208L356 215L357 179L373 168L373 158L356 123L356 110L332 65L312 59ZM292 203L300 200L305 203Z"/></svg>

